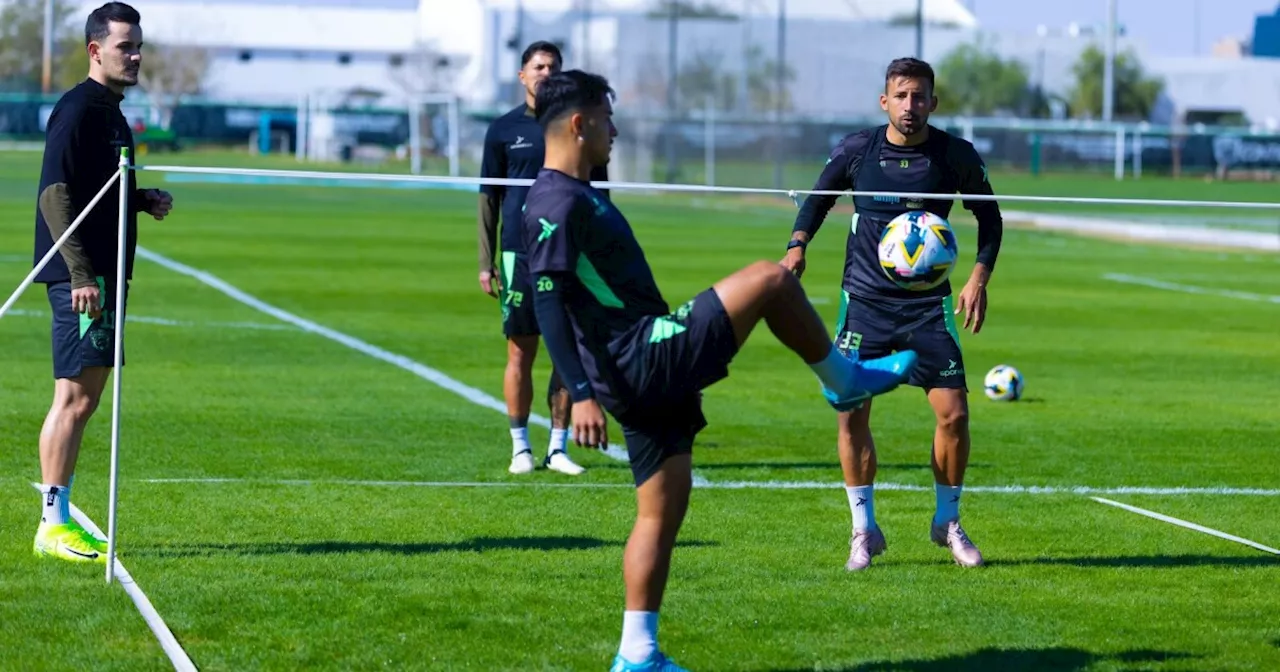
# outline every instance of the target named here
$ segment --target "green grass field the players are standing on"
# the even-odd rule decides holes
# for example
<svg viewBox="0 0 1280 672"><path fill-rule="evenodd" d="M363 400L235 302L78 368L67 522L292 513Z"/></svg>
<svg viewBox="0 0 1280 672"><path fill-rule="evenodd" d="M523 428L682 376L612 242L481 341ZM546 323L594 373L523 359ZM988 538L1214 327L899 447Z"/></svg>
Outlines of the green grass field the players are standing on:
<svg viewBox="0 0 1280 672"><path fill-rule="evenodd" d="M164 157L179 160L250 165ZM37 173L38 155L0 156L5 297L31 268ZM1018 193L1274 200L1274 187L1197 180L993 180ZM138 261L131 297L119 543L195 663L607 668L630 472L573 448L589 467L577 479L507 474L506 419L483 404L500 399L504 343L475 280L474 196L166 188L175 211L143 220L156 256ZM777 259L794 214L786 200L617 200L673 305ZM805 275L828 321L842 221L832 215L819 233ZM955 223L972 259L974 227ZM1280 547L1276 296L1280 255L1009 228L987 325L963 335L970 387L997 364L1028 378L1025 401L973 398L961 512L988 559L978 570L928 541L932 413L904 388L873 419L890 549L868 572L844 571L835 416L808 369L756 330L707 393L710 426L695 448L705 486L676 552L663 648L698 671L1280 668L1280 557L1091 498ZM99 566L31 554L36 438L52 389L42 288L17 308L0 319L0 668L169 668ZM543 353L535 387L548 370ZM431 371L484 398L442 388ZM547 431L531 433L540 458ZM108 399L73 497L102 527L109 443ZM1161 493L1176 488L1204 490Z"/></svg>

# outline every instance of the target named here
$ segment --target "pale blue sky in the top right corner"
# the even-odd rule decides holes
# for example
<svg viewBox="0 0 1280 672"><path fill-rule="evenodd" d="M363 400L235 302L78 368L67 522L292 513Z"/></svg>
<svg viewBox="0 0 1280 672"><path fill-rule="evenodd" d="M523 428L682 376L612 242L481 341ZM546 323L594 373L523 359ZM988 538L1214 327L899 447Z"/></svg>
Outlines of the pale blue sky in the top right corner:
<svg viewBox="0 0 1280 672"><path fill-rule="evenodd" d="M1069 23L1105 26L1106 0L960 0L995 31L1034 32L1041 23L1065 28ZM1128 33L1161 56L1210 55L1222 37L1249 37L1258 14L1274 14L1280 0L1116 0ZM1028 10L1028 6L1036 9ZM1197 23L1199 29L1197 33ZM1198 38L1198 45L1197 45Z"/></svg>

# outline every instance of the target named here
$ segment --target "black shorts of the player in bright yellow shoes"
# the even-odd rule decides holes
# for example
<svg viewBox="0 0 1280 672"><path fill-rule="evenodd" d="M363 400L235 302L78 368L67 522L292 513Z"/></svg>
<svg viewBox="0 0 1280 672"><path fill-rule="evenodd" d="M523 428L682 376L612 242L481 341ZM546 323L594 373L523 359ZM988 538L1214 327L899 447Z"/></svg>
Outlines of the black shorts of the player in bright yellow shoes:
<svg viewBox="0 0 1280 672"><path fill-rule="evenodd" d="M115 365L115 293L97 279L102 312L96 320L72 310L72 283L50 283L46 288L52 312L54 378L77 378L86 366ZM124 289L128 303L128 284ZM125 310L128 312L128 310ZM124 364L122 344L120 364Z"/></svg>

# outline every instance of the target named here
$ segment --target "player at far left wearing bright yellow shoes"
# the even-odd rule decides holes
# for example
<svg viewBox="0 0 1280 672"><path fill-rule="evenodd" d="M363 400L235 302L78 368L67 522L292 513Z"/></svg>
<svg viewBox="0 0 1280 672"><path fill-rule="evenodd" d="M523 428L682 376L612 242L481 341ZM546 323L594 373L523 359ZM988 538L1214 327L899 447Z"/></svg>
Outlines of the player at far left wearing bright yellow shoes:
<svg viewBox="0 0 1280 672"><path fill-rule="evenodd" d="M40 196L36 207L35 259L60 238L90 200L119 168L122 148L133 157L133 132L120 113L124 90L138 83L142 28L137 10L124 3L95 9L84 23L88 78L63 95L49 118ZM128 173L125 278L133 275L137 212L164 219L173 197L138 189ZM106 562L106 541L70 517L70 486L84 426L97 408L115 357L115 257L119 236L119 186L109 191L36 275L46 285L52 311L54 402L40 431L41 498L36 531L38 557ZM125 284L125 296L128 285Z"/></svg>

